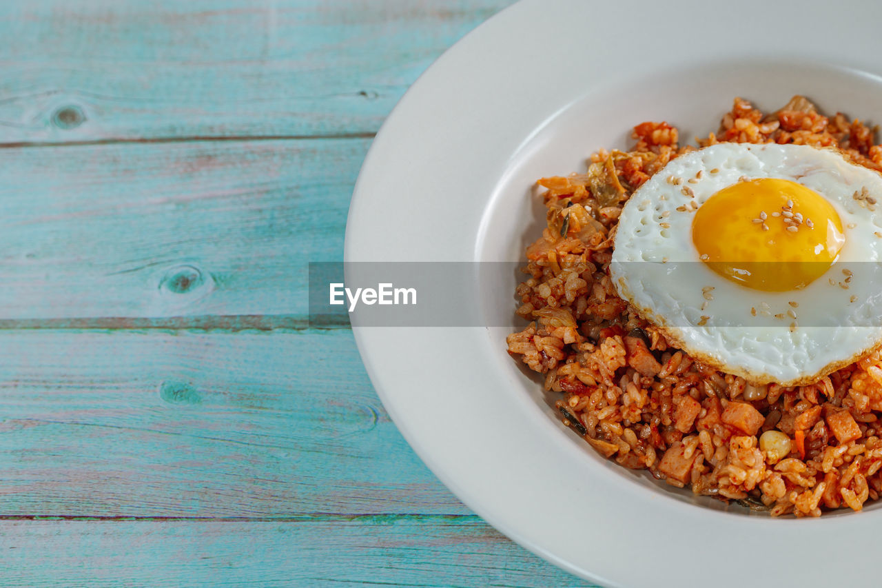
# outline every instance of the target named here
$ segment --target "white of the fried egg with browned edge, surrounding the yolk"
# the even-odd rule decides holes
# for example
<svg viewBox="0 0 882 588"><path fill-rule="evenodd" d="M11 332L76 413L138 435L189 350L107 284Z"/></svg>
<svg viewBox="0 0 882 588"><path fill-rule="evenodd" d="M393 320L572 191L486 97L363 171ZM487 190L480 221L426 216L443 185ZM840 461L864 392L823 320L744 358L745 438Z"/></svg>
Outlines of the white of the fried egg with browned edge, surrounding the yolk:
<svg viewBox="0 0 882 588"><path fill-rule="evenodd" d="M699 260L692 243L691 200L700 207L726 186L763 177L811 188L840 215L846 242L839 257L802 290L730 282ZM863 188L878 208L853 198ZM720 143L677 157L633 193L619 217L609 271L622 298L700 361L754 383L809 383L882 343L880 210L882 176L832 149ZM848 283L843 270L851 272Z"/></svg>

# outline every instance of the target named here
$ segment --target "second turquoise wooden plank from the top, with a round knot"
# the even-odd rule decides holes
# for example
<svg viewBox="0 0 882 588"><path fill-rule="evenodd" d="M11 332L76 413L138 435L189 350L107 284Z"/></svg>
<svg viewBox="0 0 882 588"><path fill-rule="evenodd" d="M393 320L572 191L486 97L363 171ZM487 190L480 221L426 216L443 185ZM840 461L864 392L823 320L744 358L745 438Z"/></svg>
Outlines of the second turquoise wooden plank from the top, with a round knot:
<svg viewBox="0 0 882 588"><path fill-rule="evenodd" d="M342 258L369 144L0 149L0 320L187 316L208 328L206 315L288 315L257 327L302 327L307 264Z"/></svg>

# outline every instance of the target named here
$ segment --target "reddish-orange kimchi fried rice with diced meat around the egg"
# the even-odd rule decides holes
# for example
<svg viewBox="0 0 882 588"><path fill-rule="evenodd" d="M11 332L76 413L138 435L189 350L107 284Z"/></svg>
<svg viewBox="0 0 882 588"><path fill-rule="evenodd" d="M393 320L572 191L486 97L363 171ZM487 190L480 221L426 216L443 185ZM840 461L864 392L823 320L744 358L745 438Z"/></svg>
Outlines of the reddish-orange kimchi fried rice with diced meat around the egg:
<svg viewBox="0 0 882 588"><path fill-rule="evenodd" d="M736 98L722 141L835 147L882 170L875 129L823 116L802 96L766 114ZM703 366L639 317L609 278L617 219L632 192L678 155L667 123L634 127L629 152L599 151L587 173L543 177L548 227L515 290L531 321L508 351L559 393L564 424L602 456L694 494L773 516L863 509L882 493L882 352L806 386L754 386Z"/></svg>

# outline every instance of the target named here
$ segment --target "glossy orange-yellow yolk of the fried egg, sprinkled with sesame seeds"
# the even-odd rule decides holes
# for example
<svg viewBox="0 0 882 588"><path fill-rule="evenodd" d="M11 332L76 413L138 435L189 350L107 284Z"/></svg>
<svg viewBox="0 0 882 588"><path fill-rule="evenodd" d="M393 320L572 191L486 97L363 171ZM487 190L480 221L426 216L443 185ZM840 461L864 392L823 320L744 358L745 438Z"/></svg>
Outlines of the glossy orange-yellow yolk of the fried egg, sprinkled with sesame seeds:
<svg viewBox="0 0 882 588"><path fill-rule="evenodd" d="M699 259L754 290L798 290L824 275L845 245L836 210L790 180L739 182L708 198L692 219Z"/></svg>

